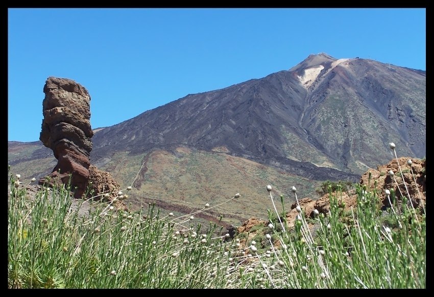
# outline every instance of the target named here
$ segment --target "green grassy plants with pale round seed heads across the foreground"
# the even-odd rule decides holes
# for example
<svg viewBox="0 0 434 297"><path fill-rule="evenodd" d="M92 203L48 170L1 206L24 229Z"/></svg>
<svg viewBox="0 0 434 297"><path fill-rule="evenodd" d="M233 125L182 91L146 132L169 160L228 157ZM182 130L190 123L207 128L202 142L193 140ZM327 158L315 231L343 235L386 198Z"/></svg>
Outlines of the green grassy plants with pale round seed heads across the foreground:
<svg viewBox="0 0 434 297"><path fill-rule="evenodd" d="M399 203L390 193L394 204L381 216L376 191L355 184L357 208L344 212L330 190L330 213L313 219L315 237L300 208L293 230L269 212L271 225L243 246L245 234L231 239L217 224L190 219L238 195L177 217L153 204L138 213L101 201L74 208L68 187L43 188L31 200L9 174L9 288L426 287L426 213L405 195ZM295 187L293 195L298 203Z"/></svg>

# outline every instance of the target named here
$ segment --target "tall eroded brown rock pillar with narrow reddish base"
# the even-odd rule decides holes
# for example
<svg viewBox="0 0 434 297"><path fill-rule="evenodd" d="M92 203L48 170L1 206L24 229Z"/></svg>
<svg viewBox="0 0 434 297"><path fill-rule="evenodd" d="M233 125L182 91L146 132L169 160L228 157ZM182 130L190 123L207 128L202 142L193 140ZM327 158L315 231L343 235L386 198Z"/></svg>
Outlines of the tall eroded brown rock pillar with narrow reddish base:
<svg viewBox="0 0 434 297"><path fill-rule="evenodd" d="M39 139L53 150L58 163L48 177L39 180L39 184L70 182L76 198L82 198L87 190L93 190L93 196L117 193L119 184L111 174L90 165L93 131L90 95L86 88L70 79L49 77L43 92L44 119Z"/></svg>

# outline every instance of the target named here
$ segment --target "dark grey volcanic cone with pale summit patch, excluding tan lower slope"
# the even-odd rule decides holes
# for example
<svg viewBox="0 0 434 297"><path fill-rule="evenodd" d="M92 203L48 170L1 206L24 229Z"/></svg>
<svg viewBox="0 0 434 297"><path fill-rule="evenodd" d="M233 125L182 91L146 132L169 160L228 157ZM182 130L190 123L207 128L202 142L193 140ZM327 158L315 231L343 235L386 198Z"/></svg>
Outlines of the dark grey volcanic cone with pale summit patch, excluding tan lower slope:
<svg viewBox="0 0 434 297"><path fill-rule="evenodd" d="M187 95L104 128L91 157L186 146L314 179L359 176L390 157L391 141L403 155L425 155L425 92L425 71L309 55L288 71Z"/></svg>

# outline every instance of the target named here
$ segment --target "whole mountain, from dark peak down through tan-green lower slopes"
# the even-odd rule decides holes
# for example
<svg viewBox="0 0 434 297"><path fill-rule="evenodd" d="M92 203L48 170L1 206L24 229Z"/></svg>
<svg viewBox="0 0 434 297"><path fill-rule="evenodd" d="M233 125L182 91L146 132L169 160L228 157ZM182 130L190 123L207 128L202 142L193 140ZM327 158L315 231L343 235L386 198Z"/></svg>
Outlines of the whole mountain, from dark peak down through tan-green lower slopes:
<svg viewBox="0 0 434 297"><path fill-rule="evenodd" d="M202 193L233 195L240 183L251 203L266 197L260 187L290 177L311 196L315 187L303 185L358 181L368 168L388 162L389 142L401 156L425 156L425 106L425 71L320 53L287 71L190 94L95 129L91 163L121 184L135 180L146 199L180 205ZM39 142L9 143L9 156L9 164L39 174L56 164ZM280 192L292 186L282 183Z"/></svg>

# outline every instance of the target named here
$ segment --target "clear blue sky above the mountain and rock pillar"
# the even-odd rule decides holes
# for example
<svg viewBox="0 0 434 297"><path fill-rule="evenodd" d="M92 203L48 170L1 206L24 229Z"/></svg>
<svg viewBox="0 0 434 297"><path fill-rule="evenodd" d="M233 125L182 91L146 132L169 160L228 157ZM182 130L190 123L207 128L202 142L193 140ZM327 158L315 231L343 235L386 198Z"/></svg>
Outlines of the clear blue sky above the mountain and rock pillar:
<svg viewBox="0 0 434 297"><path fill-rule="evenodd" d="M98 128L321 52L426 70L426 9L9 9L8 141L39 140L49 76Z"/></svg>

